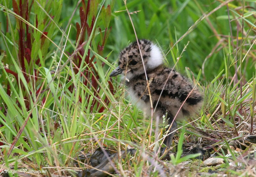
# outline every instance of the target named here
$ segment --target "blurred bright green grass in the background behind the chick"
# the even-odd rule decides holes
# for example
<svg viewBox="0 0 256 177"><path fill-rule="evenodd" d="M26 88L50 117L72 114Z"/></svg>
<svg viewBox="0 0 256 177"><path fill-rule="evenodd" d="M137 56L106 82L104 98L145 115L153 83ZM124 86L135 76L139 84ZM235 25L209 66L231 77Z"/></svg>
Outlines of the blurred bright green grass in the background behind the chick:
<svg viewBox="0 0 256 177"><path fill-rule="evenodd" d="M67 30L67 25L70 16L74 12L78 1L63 1L62 11L60 14L60 27ZM99 1L100 2L100 1ZM146 38L158 43L163 52L166 54L169 46L172 46L183 34L188 31L196 20L198 20L203 14L211 12L218 7L222 0L129 0L127 1L127 7L130 12L139 11L131 14L136 33L139 38ZM252 0L245 0L244 6L250 6L250 8L244 10L245 18L253 22L255 19L256 8L255 2ZM7 2L11 3L11 2ZM112 9L112 17L109 27L112 27L108 41L105 45L104 53L108 54L113 50L109 61L114 62L118 59L119 52L129 44L129 42L135 41L135 35L132 29L131 22L125 10L124 2L122 0L106 0L105 6L110 4ZM233 35L233 41L236 45L236 32L237 25L239 29L238 36L242 39L241 27L242 22L238 23L236 20L237 15L234 12L242 14L241 1L233 1L229 3L229 13L231 20L231 31ZM252 10L252 11L248 11ZM123 11L117 12L116 11ZM50 11L49 14L52 12ZM247 14L246 14L247 13ZM35 15L35 14L32 14ZM6 30L6 17L4 12L0 12L1 29ZM11 17L13 18L13 17ZM100 23L97 26L101 26L104 22L104 17L100 17ZM71 31L69 38L74 41L76 39L76 26L75 23L80 21L79 8L74 12L74 17L71 20ZM184 39L182 39L177 46L174 46L172 52L174 58L177 58L184 48L184 45L190 42L186 51L183 53L182 58L178 63L180 71L184 71L185 67L192 70L195 75L202 68L205 61L203 75L201 77L202 82L211 81L214 76L220 73L224 69L223 51L227 52L228 36L231 36L231 31L228 22L227 6L221 7L216 12L212 13L209 17L202 20L195 29L190 32ZM237 24L238 23L238 24ZM33 24L33 23L32 23ZM247 23L248 24L248 23ZM244 32L248 31L250 25L244 25ZM97 30L97 29L96 29ZM252 37L255 32L251 34ZM53 41L60 42L62 34L57 31ZM97 36L99 37L99 36ZM1 40L1 39L0 39ZM219 42L219 43L218 43ZM238 41L241 44L240 40ZM5 50L3 41L0 42L0 48ZM70 46L67 46L67 50ZM224 49L223 49L224 48ZM51 49L50 49L51 50ZM235 49L234 49L235 50ZM72 52L70 49L69 52ZM207 57L209 55L209 57ZM49 56L50 57L50 56ZM166 56L170 65L173 65L173 56L169 52ZM249 56L250 57L250 56ZM175 60L175 59L174 59ZM252 77L252 66L255 63L255 56L247 59L246 66L243 67L243 75L248 80ZM231 68L234 72L234 68Z"/></svg>

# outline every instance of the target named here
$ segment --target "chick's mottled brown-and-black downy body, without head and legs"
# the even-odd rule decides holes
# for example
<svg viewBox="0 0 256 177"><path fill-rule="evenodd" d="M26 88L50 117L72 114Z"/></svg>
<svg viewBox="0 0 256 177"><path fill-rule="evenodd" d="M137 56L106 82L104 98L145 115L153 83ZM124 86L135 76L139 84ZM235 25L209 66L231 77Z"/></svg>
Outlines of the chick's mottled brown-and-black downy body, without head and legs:
<svg viewBox="0 0 256 177"><path fill-rule="evenodd" d="M157 105L155 116L162 117L167 112L171 118L174 118L185 100L186 102L177 114L176 120L194 114L200 109L203 102L202 94L198 88L194 88L191 82L177 71L160 65L147 71L147 76L153 108ZM151 104L145 73L126 81L126 86L132 100L150 115ZM162 95L159 99L161 92ZM159 102L157 103L158 99Z"/></svg>

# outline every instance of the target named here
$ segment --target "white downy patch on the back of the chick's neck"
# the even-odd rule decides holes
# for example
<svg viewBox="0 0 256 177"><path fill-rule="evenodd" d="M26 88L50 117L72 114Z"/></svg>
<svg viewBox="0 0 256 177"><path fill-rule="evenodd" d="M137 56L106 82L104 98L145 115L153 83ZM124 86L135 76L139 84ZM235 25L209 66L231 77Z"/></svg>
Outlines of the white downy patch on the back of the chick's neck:
<svg viewBox="0 0 256 177"><path fill-rule="evenodd" d="M163 55L161 50L155 45L151 44L150 58L148 59L148 68L156 68L163 64Z"/></svg>

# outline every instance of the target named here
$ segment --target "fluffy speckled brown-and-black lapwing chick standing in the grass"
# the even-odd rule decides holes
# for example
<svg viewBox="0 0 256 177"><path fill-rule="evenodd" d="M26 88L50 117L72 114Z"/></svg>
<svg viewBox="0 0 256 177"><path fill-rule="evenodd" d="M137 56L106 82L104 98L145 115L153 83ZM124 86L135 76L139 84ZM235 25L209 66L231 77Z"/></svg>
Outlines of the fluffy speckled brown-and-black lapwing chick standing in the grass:
<svg viewBox="0 0 256 177"><path fill-rule="evenodd" d="M147 73L149 89L141 56ZM129 95L143 111L149 116L151 115L150 94L153 109L156 107L153 116L162 118L163 115L167 115L168 124L170 126L172 124L172 127L168 129L173 133L165 138L164 143L167 148L170 148L174 130L177 128L176 120L188 117L198 111L203 102L203 95L187 78L174 69L166 67L161 50L153 42L145 39L139 40L139 44L133 42L121 51L118 67L113 70L110 77L118 74L124 75Z"/></svg>

